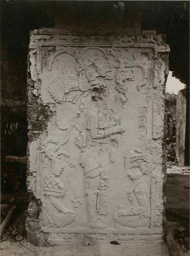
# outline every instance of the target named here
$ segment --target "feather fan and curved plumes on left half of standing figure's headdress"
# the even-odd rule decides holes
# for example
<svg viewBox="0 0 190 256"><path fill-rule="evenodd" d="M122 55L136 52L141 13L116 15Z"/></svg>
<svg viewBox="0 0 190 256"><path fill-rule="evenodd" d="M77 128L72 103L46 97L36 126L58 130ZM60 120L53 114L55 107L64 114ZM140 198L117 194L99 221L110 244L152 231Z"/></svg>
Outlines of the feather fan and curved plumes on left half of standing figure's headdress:
<svg viewBox="0 0 190 256"><path fill-rule="evenodd" d="M108 59L107 53L99 48L99 47L86 47L79 55L72 48L64 48L59 52L55 53L49 62L49 70L51 70L51 65L53 60L59 54L66 52L73 56L77 60L77 72L78 77L68 76L65 70L65 63L63 61L62 64L62 73L63 75L57 76L53 78L53 80L49 84L49 92L54 98L54 100L58 103L61 102L72 102L76 103L80 96L85 95L92 90L92 87L100 85L101 82L98 80L98 77L106 77L107 73L110 71L110 66L108 65L107 70L101 66L101 62L99 62L99 54L95 56L93 59L85 58L83 55L87 50L98 50L103 53L106 59ZM95 68L93 68L95 67Z"/></svg>

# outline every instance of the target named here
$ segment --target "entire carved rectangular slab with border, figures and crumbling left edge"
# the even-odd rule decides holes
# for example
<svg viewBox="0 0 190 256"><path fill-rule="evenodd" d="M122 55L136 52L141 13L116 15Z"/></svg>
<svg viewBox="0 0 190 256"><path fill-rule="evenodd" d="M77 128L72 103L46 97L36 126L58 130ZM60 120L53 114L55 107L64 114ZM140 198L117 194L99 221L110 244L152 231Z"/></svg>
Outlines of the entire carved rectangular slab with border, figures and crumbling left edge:
<svg viewBox="0 0 190 256"><path fill-rule="evenodd" d="M168 52L152 30L31 33L30 242L162 241Z"/></svg>

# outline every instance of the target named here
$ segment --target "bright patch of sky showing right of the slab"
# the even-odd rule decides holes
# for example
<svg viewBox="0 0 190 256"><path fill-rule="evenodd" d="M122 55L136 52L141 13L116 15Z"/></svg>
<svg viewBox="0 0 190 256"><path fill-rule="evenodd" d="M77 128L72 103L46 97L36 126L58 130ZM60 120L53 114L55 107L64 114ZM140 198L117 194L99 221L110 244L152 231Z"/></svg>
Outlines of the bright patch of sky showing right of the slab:
<svg viewBox="0 0 190 256"><path fill-rule="evenodd" d="M166 82L166 92L178 94L178 91L184 89L185 86L186 85L182 84L179 79L172 77L172 72L169 71Z"/></svg>

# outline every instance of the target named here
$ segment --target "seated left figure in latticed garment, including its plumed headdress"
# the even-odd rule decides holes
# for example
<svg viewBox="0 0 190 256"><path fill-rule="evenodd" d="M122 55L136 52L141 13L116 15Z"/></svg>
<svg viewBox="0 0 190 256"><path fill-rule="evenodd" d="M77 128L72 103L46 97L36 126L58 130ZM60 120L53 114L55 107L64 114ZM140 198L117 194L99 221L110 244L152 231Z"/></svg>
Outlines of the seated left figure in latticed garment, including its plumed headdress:
<svg viewBox="0 0 190 256"><path fill-rule="evenodd" d="M45 156L48 158L46 164L51 164L51 173L44 177L45 200L42 204L43 225L48 228L61 228L71 224L76 219L76 213L65 207L59 200L65 196L66 189L59 178L63 173L62 152L59 151L57 142L49 140L43 148Z"/></svg>

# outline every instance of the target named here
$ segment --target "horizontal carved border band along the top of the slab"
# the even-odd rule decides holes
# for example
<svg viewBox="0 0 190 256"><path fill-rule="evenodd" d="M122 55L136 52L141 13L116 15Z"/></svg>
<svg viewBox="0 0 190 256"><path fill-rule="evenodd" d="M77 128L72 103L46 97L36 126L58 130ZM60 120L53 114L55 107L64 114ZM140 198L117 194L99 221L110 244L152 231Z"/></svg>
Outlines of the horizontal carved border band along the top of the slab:
<svg viewBox="0 0 190 256"><path fill-rule="evenodd" d="M155 55L158 52L169 52L170 48L162 41L162 35L156 34L154 30L142 30L139 32L125 34L83 34L83 33L64 33L59 30L39 29L34 30L33 40L30 48L36 48L36 44L46 42L59 42L64 45L97 45L97 46L122 46L146 44L154 46ZM151 46L152 47L152 46Z"/></svg>

